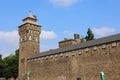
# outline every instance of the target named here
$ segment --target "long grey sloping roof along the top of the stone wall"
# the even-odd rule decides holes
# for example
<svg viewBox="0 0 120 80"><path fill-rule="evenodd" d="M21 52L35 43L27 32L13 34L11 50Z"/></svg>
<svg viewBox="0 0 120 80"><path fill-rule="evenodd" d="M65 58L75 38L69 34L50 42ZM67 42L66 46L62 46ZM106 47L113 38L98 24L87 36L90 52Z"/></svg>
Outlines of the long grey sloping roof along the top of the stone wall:
<svg viewBox="0 0 120 80"><path fill-rule="evenodd" d="M87 48L87 47L91 47L91 46L106 44L106 43L115 42L115 41L120 41L120 33L111 35L111 36L107 36L107 37L103 37L103 38L99 38L99 39L94 39L91 41L87 41L84 43L80 43L80 44L65 47L65 48L58 48L58 49L41 52L40 54L32 55L32 56L28 57L28 60L34 59L34 58L39 58L39 57L44 57L44 56L55 55L55 54L59 54L59 53L64 53L64 52L68 52L68 51L73 51L73 50L77 50L77 49L83 49L83 48Z"/></svg>

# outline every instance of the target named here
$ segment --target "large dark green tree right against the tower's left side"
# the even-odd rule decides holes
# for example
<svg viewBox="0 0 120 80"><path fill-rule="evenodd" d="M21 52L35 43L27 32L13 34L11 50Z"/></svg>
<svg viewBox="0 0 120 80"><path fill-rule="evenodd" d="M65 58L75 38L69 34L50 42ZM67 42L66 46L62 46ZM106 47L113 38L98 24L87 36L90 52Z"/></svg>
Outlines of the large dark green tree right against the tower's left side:
<svg viewBox="0 0 120 80"><path fill-rule="evenodd" d="M18 76L18 61L19 61L19 50L15 51L15 55L9 55L4 58L4 77L5 78L17 78Z"/></svg>

